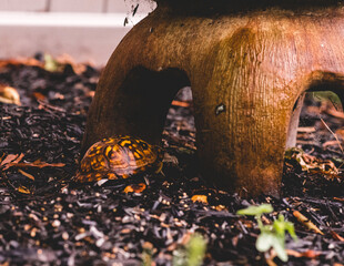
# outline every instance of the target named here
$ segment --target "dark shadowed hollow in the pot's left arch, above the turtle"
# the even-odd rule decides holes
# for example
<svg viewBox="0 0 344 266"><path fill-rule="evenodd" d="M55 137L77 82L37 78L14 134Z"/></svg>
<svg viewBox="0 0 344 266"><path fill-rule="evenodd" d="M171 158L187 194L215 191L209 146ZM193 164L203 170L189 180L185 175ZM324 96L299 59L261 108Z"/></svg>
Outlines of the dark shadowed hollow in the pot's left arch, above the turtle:
<svg viewBox="0 0 344 266"><path fill-rule="evenodd" d="M174 95L188 85L188 75L179 69L132 69L115 92L114 132L139 136L158 144Z"/></svg>

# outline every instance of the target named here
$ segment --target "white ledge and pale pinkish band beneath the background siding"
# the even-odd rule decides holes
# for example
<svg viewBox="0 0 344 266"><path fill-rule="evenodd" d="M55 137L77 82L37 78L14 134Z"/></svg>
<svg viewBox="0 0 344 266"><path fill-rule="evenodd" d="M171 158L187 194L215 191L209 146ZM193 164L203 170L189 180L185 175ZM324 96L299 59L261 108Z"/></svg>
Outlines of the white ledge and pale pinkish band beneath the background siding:
<svg viewBox="0 0 344 266"><path fill-rule="evenodd" d="M0 59L68 53L77 62L104 65L125 33L145 16L130 18L124 27L125 12L0 11Z"/></svg>

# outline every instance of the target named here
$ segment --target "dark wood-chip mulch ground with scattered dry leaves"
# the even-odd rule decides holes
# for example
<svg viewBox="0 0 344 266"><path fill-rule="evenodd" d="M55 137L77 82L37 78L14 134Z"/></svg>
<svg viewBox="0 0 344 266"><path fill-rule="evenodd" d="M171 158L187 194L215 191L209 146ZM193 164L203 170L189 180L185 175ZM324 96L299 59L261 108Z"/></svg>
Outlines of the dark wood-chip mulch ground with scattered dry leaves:
<svg viewBox="0 0 344 266"><path fill-rule="evenodd" d="M0 62L0 83L14 88L21 99L20 106L0 103L0 265L141 265L146 248L155 265L172 265L173 253L195 232L208 243L204 265L282 265L273 253L255 249L255 221L235 214L261 203L275 209L264 215L264 223L283 214L295 225L299 241L287 236L286 265L344 262L338 145L344 120L335 103L307 99L297 135L305 153L295 151L285 160L282 198L243 200L206 187L199 174L188 90L168 115L164 175L78 186L70 180L100 70L43 66L33 59ZM139 183L146 188L141 191ZM297 222L294 211L323 235Z"/></svg>

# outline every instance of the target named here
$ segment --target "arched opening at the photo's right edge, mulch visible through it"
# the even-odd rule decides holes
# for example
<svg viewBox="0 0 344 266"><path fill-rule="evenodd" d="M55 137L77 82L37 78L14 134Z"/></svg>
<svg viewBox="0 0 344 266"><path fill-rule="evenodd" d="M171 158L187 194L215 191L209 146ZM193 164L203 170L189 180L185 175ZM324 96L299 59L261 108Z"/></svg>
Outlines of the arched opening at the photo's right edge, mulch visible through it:
<svg viewBox="0 0 344 266"><path fill-rule="evenodd" d="M286 195L342 194L344 173L344 84L341 79L312 82L295 102L289 132L283 184ZM301 108L300 108L301 106ZM299 109L299 110L297 110Z"/></svg>

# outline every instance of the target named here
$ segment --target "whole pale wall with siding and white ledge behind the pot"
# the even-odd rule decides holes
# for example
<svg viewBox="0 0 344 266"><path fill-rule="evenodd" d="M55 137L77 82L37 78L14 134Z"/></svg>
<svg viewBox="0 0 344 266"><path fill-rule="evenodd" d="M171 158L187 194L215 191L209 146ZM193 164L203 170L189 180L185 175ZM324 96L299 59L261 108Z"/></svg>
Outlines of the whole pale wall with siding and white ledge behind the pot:
<svg viewBox="0 0 344 266"><path fill-rule="evenodd" d="M0 0L0 59L68 53L75 61L107 63L114 48L154 9L138 0ZM123 25L125 17L129 24Z"/></svg>

